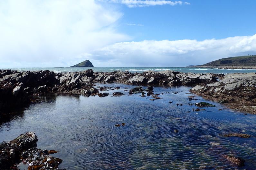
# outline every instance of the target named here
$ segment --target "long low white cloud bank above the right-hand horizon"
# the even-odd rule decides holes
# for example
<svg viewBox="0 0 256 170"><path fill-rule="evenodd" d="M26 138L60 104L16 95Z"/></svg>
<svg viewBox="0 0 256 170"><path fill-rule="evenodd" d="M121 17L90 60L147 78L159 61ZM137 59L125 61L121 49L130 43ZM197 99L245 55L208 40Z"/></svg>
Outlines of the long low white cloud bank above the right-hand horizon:
<svg viewBox="0 0 256 170"><path fill-rule="evenodd" d="M88 56L97 66L152 67L205 64L224 57L256 54L256 34L224 39L145 40L103 47Z"/></svg>

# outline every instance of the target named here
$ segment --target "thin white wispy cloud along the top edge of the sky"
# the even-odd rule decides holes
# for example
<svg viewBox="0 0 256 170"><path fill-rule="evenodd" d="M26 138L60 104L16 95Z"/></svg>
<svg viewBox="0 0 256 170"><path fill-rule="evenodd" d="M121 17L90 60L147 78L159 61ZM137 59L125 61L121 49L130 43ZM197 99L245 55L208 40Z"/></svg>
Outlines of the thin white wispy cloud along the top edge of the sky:
<svg viewBox="0 0 256 170"><path fill-rule="evenodd" d="M144 7L144 6L155 6L155 5L189 5L188 2L183 1L168 1L168 0L109 0L109 2L124 4L129 8Z"/></svg>

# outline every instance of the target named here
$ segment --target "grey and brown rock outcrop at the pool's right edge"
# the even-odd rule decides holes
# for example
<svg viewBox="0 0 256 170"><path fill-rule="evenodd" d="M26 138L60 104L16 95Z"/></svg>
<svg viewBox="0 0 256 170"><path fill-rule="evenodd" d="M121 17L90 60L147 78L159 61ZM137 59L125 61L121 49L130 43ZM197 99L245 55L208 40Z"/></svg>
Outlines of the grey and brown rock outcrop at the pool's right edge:
<svg viewBox="0 0 256 170"><path fill-rule="evenodd" d="M256 114L256 73L232 73L221 80L194 86L190 91L231 108Z"/></svg>

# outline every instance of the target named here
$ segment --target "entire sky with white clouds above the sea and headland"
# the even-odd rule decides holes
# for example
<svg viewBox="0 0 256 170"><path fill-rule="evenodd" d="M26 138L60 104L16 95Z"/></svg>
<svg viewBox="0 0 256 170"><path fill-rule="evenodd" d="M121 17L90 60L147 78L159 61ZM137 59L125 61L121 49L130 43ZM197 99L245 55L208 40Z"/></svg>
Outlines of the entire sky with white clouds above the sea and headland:
<svg viewBox="0 0 256 170"><path fill-rule="evenodd" d="M256 55L254 0L1 0L0 67L175 67Z"/></svg>

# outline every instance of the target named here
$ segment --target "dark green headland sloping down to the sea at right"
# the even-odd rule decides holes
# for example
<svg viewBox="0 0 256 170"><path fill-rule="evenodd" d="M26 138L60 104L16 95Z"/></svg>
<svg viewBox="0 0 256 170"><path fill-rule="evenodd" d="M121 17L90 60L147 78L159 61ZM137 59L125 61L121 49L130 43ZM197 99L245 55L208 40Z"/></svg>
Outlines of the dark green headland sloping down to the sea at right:
<svg viewBox="0 0 256 170"><path fill-rule="evenodd" d="M256 66L256 55L222 58L197 66Z"/></svg>

